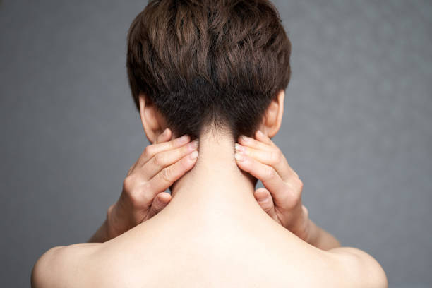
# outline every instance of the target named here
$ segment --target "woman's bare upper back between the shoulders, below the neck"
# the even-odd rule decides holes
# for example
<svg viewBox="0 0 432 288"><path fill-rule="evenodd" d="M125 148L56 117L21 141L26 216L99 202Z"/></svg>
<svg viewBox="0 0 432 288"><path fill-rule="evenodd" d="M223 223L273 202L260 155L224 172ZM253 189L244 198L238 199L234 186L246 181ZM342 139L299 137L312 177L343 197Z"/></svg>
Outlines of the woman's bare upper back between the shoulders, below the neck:
<svg viewBox="0 0 432 288"><path fill-rule="evenodd" d="M337 287L335 258L265 212L254 219L189 216L167 209L112 241L88 246L78 268L80 287Z"/></svg>

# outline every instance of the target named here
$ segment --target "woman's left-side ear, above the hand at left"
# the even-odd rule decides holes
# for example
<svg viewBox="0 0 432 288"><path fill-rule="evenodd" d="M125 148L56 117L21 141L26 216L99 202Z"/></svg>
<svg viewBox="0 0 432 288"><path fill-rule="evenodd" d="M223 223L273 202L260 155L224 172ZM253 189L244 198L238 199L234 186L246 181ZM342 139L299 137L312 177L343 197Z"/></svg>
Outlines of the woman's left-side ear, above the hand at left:
<svg viewBox="0 0 432 288"><path fill-rule="evenodd" d="M147 136L150 143L155 143L157 136L167 128L166 121L160 112L157 111L155 104L144 93L140 93L138 97L140 102L140 118L145 136Z"/></svg>

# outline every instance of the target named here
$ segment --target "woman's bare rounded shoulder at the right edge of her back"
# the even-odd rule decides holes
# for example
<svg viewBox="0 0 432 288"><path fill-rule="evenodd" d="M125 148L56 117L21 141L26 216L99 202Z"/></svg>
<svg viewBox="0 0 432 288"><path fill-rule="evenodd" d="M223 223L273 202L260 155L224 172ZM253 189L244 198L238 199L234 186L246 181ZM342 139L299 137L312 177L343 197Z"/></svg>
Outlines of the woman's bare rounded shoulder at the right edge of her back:
<svg viewBox="0 0 432 288"><path fill-rule="evenodd" d="M338 247L328 251L341 271L341 284L349 287L387 288L387 276L378 261L365 251L353 247Z"/></svg>

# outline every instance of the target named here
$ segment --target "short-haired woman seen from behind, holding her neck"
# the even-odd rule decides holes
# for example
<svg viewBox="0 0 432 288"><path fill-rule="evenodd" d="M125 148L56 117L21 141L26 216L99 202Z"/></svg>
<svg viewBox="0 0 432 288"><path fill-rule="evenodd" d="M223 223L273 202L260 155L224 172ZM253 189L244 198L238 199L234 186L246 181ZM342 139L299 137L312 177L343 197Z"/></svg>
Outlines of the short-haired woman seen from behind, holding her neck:
<svg viewBox="0 0 432 288"><path fill-rule="evenodd" d="M280 22L268 0L150 1L126 64L152 145L91 239L104 243L50 249L33 287L387 287L308 219L270 139L290 76Z"/></svg>

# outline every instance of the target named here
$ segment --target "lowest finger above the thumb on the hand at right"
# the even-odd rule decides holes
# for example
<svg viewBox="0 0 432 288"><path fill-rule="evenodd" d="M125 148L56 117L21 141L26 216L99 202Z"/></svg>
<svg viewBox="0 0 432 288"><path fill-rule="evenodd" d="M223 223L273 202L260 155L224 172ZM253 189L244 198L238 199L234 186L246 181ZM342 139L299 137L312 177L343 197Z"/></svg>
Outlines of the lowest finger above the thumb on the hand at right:
<svg viewBox="0 0 432 288"><path fill-rule="evenodd" d="M240 169L250 173L263 182L265 188L271 193L273 203L280 208L289 208L293 200L296 199L296 193L288 186L273 167L263 164L248 155L236 152L235 159Z"/></svg>

